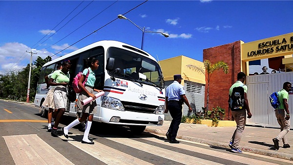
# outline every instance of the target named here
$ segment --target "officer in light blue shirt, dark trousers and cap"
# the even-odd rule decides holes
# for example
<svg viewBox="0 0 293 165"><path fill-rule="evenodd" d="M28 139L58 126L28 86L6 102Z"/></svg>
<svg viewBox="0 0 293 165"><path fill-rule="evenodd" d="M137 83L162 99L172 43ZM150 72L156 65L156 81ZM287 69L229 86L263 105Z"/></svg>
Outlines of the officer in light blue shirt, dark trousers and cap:
<svg viewBox="0 0 293 165"><path fill-rule="evenodd" d="M166 134L170 143L179 143L179 141L176 140L176 136L181 123L183 102L188 106L189 112L192 112L192 108L185 95L185 90L181 85L182 80L183 78L180 74L175 74L174 82L166 89L165 113L169 111L173 118Z"/></svg>

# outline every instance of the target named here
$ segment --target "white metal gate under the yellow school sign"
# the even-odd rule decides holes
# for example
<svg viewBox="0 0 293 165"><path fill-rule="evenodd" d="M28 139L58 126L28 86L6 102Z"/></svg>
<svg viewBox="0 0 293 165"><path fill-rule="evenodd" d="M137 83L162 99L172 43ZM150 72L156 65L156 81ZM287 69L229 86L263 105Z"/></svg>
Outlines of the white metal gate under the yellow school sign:
<svg viewBox="0 0 293 165"><path fill-rule="evenodd" d="M279 127L269 96L282 89L286 81L293 84L293 72L247 76L248 101L252 113L252 118L247 119L248 124ZM293 94L289 95L288 103L290 114L293 114Z"/></svg>

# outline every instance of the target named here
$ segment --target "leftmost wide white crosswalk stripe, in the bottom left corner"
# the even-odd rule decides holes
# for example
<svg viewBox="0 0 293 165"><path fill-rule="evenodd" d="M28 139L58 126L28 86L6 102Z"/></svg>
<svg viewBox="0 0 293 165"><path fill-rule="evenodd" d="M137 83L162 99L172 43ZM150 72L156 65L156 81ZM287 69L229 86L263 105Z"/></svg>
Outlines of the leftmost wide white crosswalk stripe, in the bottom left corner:
<svg viewBox="0 0 293 165"><path fill-rule="evenodd" d="M74 165L36 134L3 138L16 165Z"/></svg>

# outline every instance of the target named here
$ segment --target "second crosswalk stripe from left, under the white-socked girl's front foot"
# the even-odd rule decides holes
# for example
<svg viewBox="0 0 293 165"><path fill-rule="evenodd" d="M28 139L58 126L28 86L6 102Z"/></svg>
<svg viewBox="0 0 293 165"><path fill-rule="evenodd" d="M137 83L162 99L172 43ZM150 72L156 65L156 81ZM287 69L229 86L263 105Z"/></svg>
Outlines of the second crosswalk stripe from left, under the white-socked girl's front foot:
<svg viewBox="0 0 293 165"><path fill-rule="evenodd" d="M72 134L70 136L80 136L80 134ZM108 165L152 165L146 161L99 143L98 141L95 141L95 144L83 144L70 137L69 139L65 139L64 136L61 136L60 138L67 140L70 144Z"/></svg>

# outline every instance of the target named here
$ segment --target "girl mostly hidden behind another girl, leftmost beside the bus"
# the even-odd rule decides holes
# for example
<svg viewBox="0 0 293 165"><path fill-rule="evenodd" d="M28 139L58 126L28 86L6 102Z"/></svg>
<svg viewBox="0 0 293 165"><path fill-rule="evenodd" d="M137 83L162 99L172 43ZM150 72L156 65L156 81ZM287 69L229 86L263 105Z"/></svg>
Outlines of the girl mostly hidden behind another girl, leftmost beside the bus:
<svg viewBox="0 0 293 165"><path fill-rule="evenodd" d="M61 70L62 69L62 64L57 64L57 70ZM48 74L47 76L45 76L45 82L47 84L47 88L50 87L49 85L49 79L51 78L53 72ZM48 93L47 93L47 96L45 98L45 101L43 102L43 106L45 107L48 107L49 108L49 111L48 111L48 132L51 132L52 130L52 125L54 125L54 118L56 118L56 115L57 115L57 109L55 110L55 114L56 115L53 115L53 111L55 109L55 105L54 105L54 90L55 90L56 86L52 86Z"/></svg>

